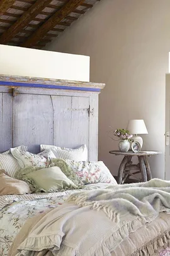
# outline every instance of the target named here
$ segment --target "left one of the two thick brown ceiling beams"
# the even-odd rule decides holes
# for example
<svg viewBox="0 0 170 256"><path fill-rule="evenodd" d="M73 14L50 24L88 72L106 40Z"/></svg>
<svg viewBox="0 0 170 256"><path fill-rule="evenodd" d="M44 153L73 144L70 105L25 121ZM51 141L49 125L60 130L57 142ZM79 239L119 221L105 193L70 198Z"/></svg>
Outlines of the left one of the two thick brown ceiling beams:
<svg viewBox="0 0 170 256"><path fill-rule="evenodd" d="M6 32L0 37L0 44L7 44L20 30L28 26L51 0L37 0Z"/></svg>

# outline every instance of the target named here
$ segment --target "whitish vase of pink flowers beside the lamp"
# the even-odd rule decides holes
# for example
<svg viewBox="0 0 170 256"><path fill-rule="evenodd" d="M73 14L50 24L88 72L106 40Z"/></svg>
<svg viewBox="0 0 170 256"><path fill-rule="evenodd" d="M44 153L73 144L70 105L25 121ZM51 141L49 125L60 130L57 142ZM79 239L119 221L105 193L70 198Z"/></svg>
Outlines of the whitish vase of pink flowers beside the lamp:
<svg viewBox="0 0 170 256"><path fill-rule="evenodd" d="M118 143L118 148L120 152L128 152L130 149L130 141L133 135L130 135L128 130L125 129L116 129L114 135L119 138L120 142Z"/></svg>

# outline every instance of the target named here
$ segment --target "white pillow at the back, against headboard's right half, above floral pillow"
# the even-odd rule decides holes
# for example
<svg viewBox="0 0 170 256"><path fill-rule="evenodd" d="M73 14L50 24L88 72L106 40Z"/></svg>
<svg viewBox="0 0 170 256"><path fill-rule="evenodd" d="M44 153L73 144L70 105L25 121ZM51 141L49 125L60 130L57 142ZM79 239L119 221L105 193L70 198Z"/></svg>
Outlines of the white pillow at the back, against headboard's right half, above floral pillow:
<svg viewBox="0 0 170 256"><path fill-rule="evenodd" d="M86 145L82 145L78 149L67 149L65 147L56 147L54 145L40 145L40 150L50 149L54 152L56 158L73 161L88 161L88 149Z"/></svg>

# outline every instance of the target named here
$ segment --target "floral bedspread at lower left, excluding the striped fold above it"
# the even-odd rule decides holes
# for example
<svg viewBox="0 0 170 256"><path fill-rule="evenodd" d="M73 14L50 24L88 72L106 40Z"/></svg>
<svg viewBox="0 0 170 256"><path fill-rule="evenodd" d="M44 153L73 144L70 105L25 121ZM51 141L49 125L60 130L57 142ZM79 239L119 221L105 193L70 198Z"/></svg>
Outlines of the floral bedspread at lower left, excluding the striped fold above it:
<svg viewBox="0 0 170 256"><path fill-rule="evenodd" d="M8 255L9 247L26 219L50 208L58 207L64 202L65 198L67 197L60 196L57 198L13 202L13 204L4 207L0 211L0 255Z"/></svg>

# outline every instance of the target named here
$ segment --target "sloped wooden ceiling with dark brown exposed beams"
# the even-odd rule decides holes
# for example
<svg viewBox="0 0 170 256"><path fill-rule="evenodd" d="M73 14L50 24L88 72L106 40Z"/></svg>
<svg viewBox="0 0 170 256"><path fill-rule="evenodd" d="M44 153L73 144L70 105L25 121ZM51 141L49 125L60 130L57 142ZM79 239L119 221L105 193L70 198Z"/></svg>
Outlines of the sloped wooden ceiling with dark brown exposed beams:
<svg viewBox="0 0 170 256"><path fill-rule="evenodd" d="M0 0L0 44L42 49L99 0Z"/></svg>

